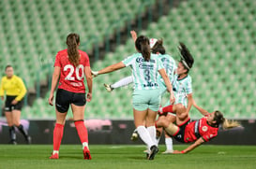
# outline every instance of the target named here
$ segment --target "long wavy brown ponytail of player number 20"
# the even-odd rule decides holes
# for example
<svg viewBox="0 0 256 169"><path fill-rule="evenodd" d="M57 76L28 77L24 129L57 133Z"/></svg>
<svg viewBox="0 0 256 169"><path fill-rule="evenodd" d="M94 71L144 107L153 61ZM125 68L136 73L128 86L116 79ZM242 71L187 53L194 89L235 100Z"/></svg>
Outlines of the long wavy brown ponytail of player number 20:
<svg viewBox="0 0 256 169"><path fill-rule="evenodd" d="M69 34L67 36L68 46L68 61L77 66L80 62L78 45L80 43L80 36L78 34Z"/></svg>

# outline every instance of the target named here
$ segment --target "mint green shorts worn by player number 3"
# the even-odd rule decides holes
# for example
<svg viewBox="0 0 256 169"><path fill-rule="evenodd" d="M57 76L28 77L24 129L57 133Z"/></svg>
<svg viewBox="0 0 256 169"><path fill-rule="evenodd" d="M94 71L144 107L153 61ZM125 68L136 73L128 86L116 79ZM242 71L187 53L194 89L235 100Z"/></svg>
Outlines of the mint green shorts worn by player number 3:
<svg viewBox="0 0 256 169"><path fill-rule="evenodd" d="M158 111L161 102L160 90L136 90L132 94L132 106L134 109L143 111L147 108Z"/></svg>

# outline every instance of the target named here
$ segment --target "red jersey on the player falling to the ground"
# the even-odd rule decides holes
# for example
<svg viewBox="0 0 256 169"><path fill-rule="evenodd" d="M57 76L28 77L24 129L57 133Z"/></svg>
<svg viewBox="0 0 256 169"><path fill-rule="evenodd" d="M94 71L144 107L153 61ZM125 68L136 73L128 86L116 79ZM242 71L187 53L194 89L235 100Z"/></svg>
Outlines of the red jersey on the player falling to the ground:
<svg viewBox="0 0 256 169"><path fill-rule="evenodd" d="M184 141L186 143L194 142L200 137L205 142L209 141L218 134L218 127L212 127L207 123L207 118L190 122L185 128Z"/></svg>

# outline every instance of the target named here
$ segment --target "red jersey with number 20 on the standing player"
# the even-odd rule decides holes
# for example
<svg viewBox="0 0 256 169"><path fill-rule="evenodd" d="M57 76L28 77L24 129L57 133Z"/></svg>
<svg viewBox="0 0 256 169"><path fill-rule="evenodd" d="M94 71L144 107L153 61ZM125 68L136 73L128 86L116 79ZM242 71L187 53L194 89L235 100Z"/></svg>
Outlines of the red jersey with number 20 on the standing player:
<svg viewBox="0 0 256 169"><path fill-rule="evenodd" d="M84 67L90 66L89 57L86 52L79 49L80 63L78 66L70 63L68 60L68 49L60 50L55 59L54 66L61 67L61 74L59 79L59 89L68 92L82 92L85 93L83 83Z"/></svg>

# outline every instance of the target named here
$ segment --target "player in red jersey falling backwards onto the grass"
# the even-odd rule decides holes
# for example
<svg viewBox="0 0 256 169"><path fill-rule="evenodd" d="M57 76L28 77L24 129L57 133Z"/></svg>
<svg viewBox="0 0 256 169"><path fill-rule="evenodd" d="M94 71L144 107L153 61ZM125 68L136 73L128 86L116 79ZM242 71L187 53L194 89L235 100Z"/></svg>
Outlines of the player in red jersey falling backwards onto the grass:
<svg viewBox="0 0 256 169"><path fill-rule="evenodd" d="M186 120L176 120L177 125L166 119L160 119L157 121L157 126L164 127L167 134L172 135L175 140L181 143L194 142L192 145L182 151L174 150L174 154L188 153L192 149L203 144L203 142L210 141L212 138L218 135L218 127L220 124L225 129L239 126L239 123L236 121L226 120L223 117L223 114L218 110L209 113L202 107L197 106L194 101L193 106L195 106L203 115L205 115L202 119L192 122L190 122L189 118Z"/></svg>

